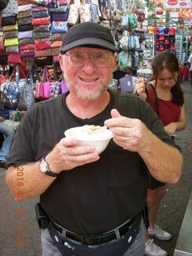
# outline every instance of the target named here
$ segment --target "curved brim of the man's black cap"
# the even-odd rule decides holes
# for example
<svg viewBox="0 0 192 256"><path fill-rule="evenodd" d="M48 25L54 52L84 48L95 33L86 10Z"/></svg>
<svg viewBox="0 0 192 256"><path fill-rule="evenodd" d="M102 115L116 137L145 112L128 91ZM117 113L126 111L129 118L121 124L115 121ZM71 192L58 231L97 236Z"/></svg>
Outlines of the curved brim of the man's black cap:
<svg viewBox="0 0 192 256"><path fill-rule="evenodd" d="M64 54L67 50L78 46L96 46L99 48L111 50L112 52L118 51L112 43L107 42L106 40L100 38L81 38L74 42L70 42L66 46L63 46L61 48L61 53Z"/></svg>

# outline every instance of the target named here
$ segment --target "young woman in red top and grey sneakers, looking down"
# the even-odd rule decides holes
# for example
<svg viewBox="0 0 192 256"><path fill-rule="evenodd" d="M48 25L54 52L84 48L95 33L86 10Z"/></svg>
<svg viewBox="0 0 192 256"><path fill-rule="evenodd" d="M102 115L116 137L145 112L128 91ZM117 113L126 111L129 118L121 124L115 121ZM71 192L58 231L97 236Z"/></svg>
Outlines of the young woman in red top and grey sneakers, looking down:
<svg viewBox="0 0 192 256"><path fill-rule="evenodd" d="M162 51L154 57L152 70L153 78L148 85L143 79L138 80L137 94L150 103L161 119L167 134L174 139L175 131L186 127L184 97L179 84L178 59L170 51ZM166 187L165 183L158 182L149 175L147 204L150 226L146 234L146 254L150 256L164 256L166 251L156 246L153 239L149 239L149 235L162 240L170 240L172 237L155 224L161 199L166 194Z"/></svg>

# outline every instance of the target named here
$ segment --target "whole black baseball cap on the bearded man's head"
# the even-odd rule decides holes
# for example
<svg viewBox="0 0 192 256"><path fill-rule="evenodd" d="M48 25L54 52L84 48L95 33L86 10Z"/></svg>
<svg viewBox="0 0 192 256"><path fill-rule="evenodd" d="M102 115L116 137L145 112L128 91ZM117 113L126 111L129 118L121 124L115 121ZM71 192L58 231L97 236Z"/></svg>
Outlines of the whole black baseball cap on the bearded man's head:
<svg viewBox="0 0 192 256"><path fill-rule="evenodd" d="M118 51L114 46L114 38L106 27L94 22L82 22L70 27L62 40L61 54L77 46L93 46Z"/></svg>

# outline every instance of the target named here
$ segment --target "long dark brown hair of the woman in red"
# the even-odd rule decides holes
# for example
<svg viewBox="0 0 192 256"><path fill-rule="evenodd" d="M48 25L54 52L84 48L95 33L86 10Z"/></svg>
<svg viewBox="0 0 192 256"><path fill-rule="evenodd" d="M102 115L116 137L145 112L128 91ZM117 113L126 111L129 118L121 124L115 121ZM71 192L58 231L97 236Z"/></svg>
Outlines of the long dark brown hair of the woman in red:
<svg viewBox="0 0 192 256"><path fill-rule="evenodd" d="M155 85L157 82L158 74L164 69L170 70L173 76L175 72L179 73L178 59L172 52L168 50L161 51L159 54L155 55L153 58L152 80L155 80ZM170 91L173 94L173 102L179 106L182 106L182 104L184 103L184 98L183 98L183 91L181 89L180 82L179 82L179 75L178 75L177 81L175 80L175 85L171 88Z"/></svg>

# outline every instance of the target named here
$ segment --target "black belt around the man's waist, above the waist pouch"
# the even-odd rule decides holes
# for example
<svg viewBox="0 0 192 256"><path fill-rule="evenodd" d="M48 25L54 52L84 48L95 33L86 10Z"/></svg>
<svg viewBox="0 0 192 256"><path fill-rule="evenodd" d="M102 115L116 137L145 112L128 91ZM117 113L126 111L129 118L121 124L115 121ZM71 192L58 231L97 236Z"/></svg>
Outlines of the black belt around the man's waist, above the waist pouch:
<svg viewBox="0 0 192 256"><path fill-rule="evenodd" d="M130 222L127 222L124 226L121 226L118 228L120 236L126 234L130 226L135 225L135 229L138 230L141 222L142 214L138 214L134 218L130 220ZM56 223L51 222L51 224L58 230L60 233L62 233L62 227L58 226ZM83 234L75 234L73 232L70 232L66 230L65 232L66 238L73 239L74 241L81 242L83 245L99 245L104 242L110 242L117 238L114 230L107 233L107 234L99 234L99 235L83 235Z"/></svg>

